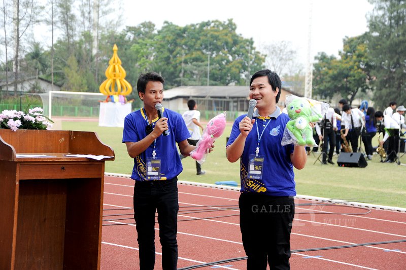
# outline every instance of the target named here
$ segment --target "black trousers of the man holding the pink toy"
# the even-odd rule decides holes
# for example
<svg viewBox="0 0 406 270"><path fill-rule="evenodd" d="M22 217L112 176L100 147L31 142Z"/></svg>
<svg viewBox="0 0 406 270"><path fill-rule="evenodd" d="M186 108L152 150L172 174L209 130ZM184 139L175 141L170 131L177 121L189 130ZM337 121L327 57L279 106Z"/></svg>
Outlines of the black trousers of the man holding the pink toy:
<svg viewBox="0 0 406 270"><path fill-rule="evenodd" d="M177 178L164 181L136 181L134 219L140 248L140 269L152 270L155 264L155 212L158 212L162 269L175 270L178 263L178 186Z"/></svg>

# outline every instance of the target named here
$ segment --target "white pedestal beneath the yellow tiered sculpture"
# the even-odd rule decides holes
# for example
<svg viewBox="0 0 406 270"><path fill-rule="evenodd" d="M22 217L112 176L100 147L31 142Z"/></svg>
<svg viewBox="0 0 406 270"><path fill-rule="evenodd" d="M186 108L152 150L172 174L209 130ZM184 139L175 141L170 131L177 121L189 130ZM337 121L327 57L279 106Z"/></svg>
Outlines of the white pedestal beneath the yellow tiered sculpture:
<svg viewBox="0 0 406 270"><path fill-rule="evenodd" d="M131 113L131 103L101 102L98 115L99 126L124 126L124 118Z"/></svg>

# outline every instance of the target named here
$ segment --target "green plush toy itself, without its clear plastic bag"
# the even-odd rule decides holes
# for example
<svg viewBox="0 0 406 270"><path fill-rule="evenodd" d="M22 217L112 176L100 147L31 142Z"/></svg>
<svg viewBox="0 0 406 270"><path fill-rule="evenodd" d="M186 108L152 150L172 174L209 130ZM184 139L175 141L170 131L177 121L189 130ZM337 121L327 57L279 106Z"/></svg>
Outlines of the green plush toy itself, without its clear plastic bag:
<svg viewBox="0 0 406 270"><path fill-rule="evenodd" d="M320 121L322 116L316 110L312 110L309 100L306 97L294 98L288 105L287 111L290 120L286 127L296 138L297 145L316 145L313 139L313 130L309 123Z"/></svg>

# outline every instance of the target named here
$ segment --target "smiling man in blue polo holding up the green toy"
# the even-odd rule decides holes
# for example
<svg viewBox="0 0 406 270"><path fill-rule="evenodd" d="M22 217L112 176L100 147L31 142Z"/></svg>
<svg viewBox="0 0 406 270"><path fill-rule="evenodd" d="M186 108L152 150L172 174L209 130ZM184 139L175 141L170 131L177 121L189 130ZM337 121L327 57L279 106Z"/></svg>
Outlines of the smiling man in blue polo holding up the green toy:
<svg viewBox="0 0 406 270"><path fill-rule="evenodd" d="M257 100L257 110L252 120L247 115L235 119L227 142L227 159L241 164L240 227L247 269L266 269L267 262L271 269L290 268L293 166L303 168L307 153L301 146L281 145L289 116L276 106L280 91L278 74L256 72L249 97Z"/></svg>

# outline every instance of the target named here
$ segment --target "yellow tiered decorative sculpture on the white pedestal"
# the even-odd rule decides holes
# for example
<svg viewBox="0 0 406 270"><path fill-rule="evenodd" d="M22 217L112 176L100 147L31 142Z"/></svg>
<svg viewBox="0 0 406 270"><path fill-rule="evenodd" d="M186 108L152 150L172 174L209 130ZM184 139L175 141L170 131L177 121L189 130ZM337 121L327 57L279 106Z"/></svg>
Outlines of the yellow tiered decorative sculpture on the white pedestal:
<svg viewBox="0 0 406 270"><path fill-rule="evenodd" d="M131 93L131 85L124 79L126 76L125 70L121 66L121 60L117 55L117 45L113 46L113 56L109 61L109 67L106 70L105 80L99 87L100 93L111 96L111 101L114 100L114 96L125 96ZM116 91L117 87L117 91ZM121 100L120 100L121 101Z"/></svg>

